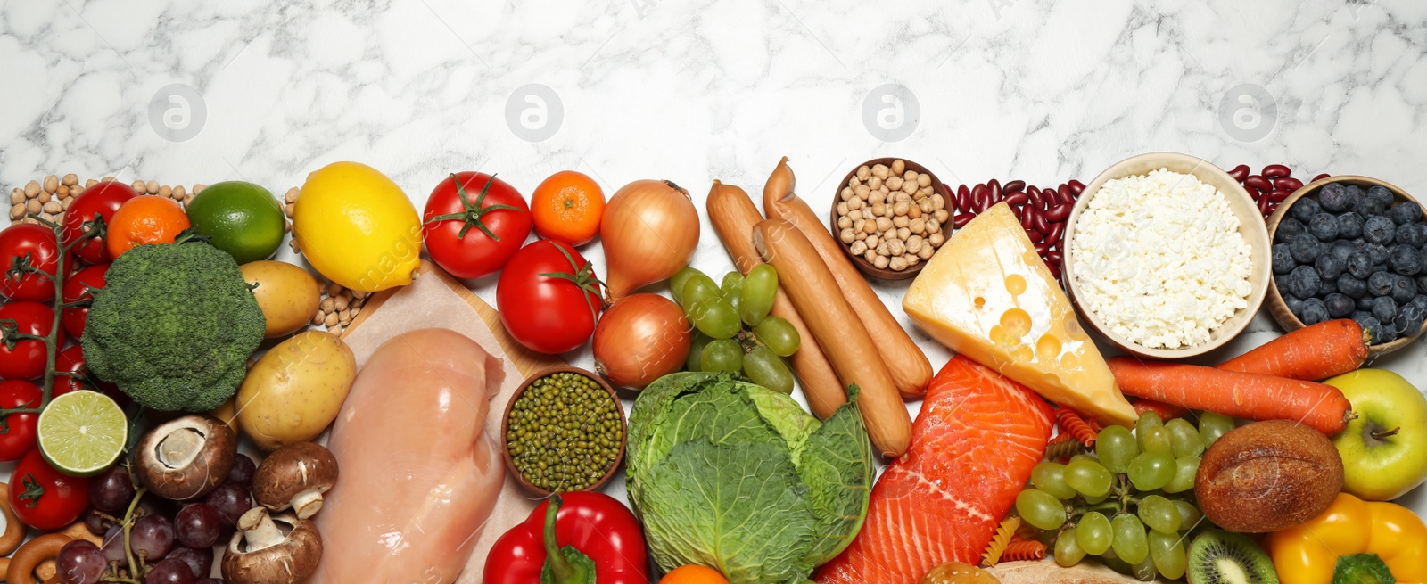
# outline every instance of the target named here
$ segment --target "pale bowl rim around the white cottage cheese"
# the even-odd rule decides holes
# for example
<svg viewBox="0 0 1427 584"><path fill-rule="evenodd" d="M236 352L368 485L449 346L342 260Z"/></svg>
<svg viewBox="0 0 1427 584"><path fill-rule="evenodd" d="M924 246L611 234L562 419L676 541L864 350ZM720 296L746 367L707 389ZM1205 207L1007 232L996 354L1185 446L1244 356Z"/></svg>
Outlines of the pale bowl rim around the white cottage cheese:
<svg viewBox="0 0 1427 584"><path fill-rule="evenodd" d="M1075 231L1076 223L1080 220L1080 213L1085 211L1086 206L1095 198L1095 193L1100 190L1106 181L1112 178L1123 178L1127 176L1147 174L1152 170L1167 168L1180 174L1192 174L1204 184L1217 188L1224 194L1229 201L1229 208L1233 210L1234 216L1239 217L1239 233L1243 234L1244 241L1250 247L1250 261L1253 268L1249 273L1249 298L1247 306L1239 308L1234 316L1222 323L1219 328L1214 328L1209 334L1209 341L1196 344L1193 347L1183 348L1152 348L1144 347L1137 343L1132 343L1127 338L1114 334L1107 324L1104 324L1092 310L1082 306L1076 297L1079 296L1079 284L1075 277L1076 256L1075 256ZM1085 187L1085 193L1080 194L1080 200L1076 201L1075 208L1070 211L1070 217L1066 220L1065 233L1065 283L1066 291L1070 300L1076 304L1076 310L1080 313L1080 318L1085 321L1086 327L1100 333L1102 337L1107 338L1112 344L1119 347L1122 351L1144 357L1144 358L1187 358L1199 354L1213 351L1229 343L1234 336L1241 333L1253 316L1259 313L1259 307L1263 304L1264 294L1271 287L1269 286L1269 274L1271 270L1271 246L1269 243L1269 230L1264 228L1263 214L1259 213L1259 207L1254 206L1253 197L1244 190L1237 180L1224 173L1219 167L1196 158L1189 154L1179 153L1149 153L1134 156L1106 168L1100 176L1095 177Z"/></svg>

